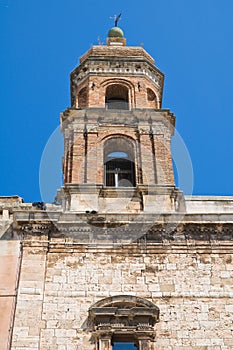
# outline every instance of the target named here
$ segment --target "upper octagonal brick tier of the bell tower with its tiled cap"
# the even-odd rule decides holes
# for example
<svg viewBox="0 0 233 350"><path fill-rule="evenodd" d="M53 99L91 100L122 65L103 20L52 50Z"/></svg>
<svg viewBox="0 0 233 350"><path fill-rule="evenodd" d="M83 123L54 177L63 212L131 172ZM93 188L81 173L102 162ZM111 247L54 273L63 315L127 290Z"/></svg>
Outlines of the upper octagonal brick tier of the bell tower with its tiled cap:
<svg viewBox="0 0 233 350"><path fill-rule="evenodd" d="M107 87L119 84L128 90L130 109L161 108L163 80L141 47L93 46L71 73L71 104L105 108Z"/></svg>

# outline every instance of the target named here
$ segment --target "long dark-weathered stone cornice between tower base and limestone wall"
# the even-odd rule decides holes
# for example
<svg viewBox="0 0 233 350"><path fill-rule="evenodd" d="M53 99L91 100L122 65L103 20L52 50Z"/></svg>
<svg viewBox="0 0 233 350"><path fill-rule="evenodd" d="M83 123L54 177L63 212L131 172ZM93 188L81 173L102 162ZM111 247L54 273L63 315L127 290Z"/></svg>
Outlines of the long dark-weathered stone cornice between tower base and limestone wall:
<svg viewBox="0 0 233 350"><path fill-rule="evenodd" d="M75 214L74 214L75 215ZM61 216L57 222L22 220L14 224L14 236L24 246L48 247L51 252L114 252L122 254L154 252L233 252L233 222L170 221L149 223L141 220L104 221L96 214ZM113 217L113 215L111 215ZM179 216L177 216L179 217ZM101 220L100 220L101 219Z"/></svg>

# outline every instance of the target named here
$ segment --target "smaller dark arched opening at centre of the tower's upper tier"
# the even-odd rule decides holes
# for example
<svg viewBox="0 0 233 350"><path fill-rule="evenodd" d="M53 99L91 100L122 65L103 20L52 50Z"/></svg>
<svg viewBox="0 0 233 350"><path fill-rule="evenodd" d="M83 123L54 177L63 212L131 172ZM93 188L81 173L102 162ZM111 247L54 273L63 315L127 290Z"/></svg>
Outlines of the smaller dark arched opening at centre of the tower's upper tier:
<svg viewBox="0 0 233 350"><path fill-rule="evenodd" d="M129 92L120 84L109 85L105 94L106 109L129 109Z"/></svg>

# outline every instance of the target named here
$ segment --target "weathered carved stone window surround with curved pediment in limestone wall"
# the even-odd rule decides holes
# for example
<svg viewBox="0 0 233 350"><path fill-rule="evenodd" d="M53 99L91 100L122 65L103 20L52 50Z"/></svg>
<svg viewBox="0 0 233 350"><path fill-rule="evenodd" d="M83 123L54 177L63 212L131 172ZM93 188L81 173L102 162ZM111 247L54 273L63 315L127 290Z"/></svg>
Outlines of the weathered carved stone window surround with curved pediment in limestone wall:
<svg viewBox="0 0 233 350"><path fill-rule="evenodd" d="M114 296L100 300L89 309L89 326L99 349L105 342L111 349L114 341L134 341L138 349L149 349L155 337L154 326L159 321L159 308L152 302L135 296ZM106 342L109 344L106 345Z"/></svg>

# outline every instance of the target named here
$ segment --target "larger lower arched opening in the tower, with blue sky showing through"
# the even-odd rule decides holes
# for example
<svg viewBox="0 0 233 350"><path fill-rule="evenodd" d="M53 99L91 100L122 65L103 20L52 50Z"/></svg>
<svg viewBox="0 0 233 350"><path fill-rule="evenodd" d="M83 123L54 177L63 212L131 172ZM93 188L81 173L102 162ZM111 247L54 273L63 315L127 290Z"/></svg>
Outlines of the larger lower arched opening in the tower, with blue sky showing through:
<svg viewBox="0 0 233 350"><path fill-rule="evenodd" d="M113 138L104 145L104 184L107 187L136 185L134 149L126 138Z"/></svg>

